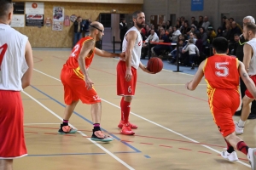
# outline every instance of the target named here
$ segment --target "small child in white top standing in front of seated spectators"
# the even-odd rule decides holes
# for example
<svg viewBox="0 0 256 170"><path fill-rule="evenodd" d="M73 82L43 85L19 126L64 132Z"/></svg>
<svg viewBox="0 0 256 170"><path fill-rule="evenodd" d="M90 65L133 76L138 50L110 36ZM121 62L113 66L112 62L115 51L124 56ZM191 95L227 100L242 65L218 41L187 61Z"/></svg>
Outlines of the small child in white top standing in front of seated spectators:
<svg viewBox="0 0 256 170"><path fill-rule="evenodd" d="M183 49L182 53L189 51L189 64L191 69L195 69L195 60L198 59L197 56L200 56L198 48L193 43L193 39L189 39L189 45Z"/></svg>

